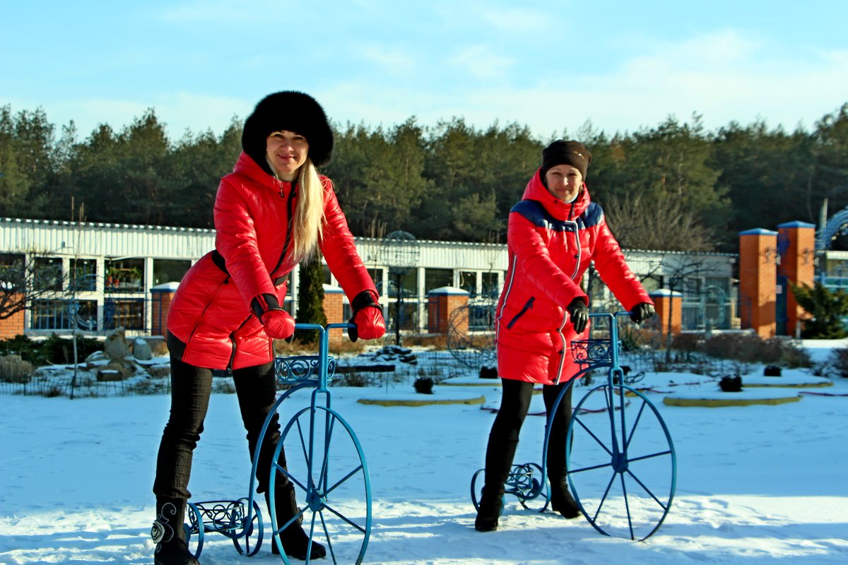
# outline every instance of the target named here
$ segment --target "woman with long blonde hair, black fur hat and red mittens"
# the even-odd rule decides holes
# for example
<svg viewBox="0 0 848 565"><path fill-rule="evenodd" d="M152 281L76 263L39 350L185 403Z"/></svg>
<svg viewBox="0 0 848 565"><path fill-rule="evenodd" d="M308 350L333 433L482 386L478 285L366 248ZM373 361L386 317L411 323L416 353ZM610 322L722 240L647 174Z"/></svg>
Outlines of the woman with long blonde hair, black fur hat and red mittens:
<svg viewBox="0 0 848 565"><path fill-rule="evenodd" d="M315 167L329 163L332 130L315 99L282 91L262 99L244 123L243 152L215 197L215 250L181 280L168 312L171 408L159 446L153 540L159 565L197 563L182 529L191 493L192 451L209 407L212 369L230 369L248 432L250 456L276 400L273 340L293 335L282 308L288 274L321 250L347 294L353 341L385 332L379 296L356 252L332 182ZM305 320L309 321L309 320ZM259 469L271 468L280 439L276 414L259 451ZM285 465L284 454L279 462ZM258 473L268 500L268 474ZM276 518L298 512L293 485L276 485ZM304 559L309 536L297 520L281 533L287 555ZM271 546L276 552L276 545ZM324 557L312 543L310 557Z"/></svg>

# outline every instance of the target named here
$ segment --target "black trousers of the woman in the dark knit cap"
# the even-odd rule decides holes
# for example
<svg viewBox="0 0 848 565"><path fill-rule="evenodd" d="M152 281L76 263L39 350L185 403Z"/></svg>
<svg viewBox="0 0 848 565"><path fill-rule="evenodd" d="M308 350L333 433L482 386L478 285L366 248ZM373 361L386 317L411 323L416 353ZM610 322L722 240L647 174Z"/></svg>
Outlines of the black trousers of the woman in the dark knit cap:
<svg viewBox="0 0 848 565"><path fill-rule="evenodd" d="M507 442L518 441L522 424L524 424L524 419L527 418L527 412L530 410L530 399L533 396L534 383L527 383L516 379L501 378L500 380L503 385L503 391L501 393L498 415L495 416L492 431L489 433L488 449L490 451L494 450L496 445L505 445ZM542 387L544 406L549 416L554 407L554 402L556 402L556 397L569 384L566 382L559 385L544 385ZM566 432L568 430L569 419L572 415L572 390L573 386L569 386L565 395L562 397L560 406L556 409L554 419L551 423L547 465L547 472L551 482L560 480L566 470ZM512 464L511 461L504 463L506 466Z"/></svg>

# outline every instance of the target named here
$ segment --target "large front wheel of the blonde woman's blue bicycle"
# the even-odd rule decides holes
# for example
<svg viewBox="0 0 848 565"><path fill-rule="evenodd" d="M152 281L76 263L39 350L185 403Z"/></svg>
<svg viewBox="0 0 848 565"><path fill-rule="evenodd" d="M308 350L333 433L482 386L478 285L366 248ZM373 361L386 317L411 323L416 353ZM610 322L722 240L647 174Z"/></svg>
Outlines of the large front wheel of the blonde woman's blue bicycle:
<svg viewBox="0 0 848 565"><path fill-rule="evenodd" d="M283 429L275 462L282 449L287 468L277 463L271 468L271 507L276 507L276 485L289 480L300 512L288 523L276 523L271 512L274 543L277 534L300 519L310 540L326 547L328 561L362 562L371 535L371 479L353 429L331 408L307 407ZM282 551L280 557L288 563Z"/></svg>

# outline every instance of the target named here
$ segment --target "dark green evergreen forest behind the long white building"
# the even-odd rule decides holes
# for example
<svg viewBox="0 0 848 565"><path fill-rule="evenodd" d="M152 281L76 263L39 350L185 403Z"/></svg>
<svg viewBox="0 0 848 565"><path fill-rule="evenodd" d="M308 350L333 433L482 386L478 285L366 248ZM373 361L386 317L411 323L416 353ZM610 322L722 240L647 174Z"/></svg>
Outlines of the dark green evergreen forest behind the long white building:
<svg viewBox="0 0 848 565"><path fill-rule="evenodd" d="M526 126L333 125L335 185L354 235L505 242L510 208L554 138ZM241 121L220 135L169 139L153 108L81 139L42 109L0 107L0 216L212 228L220 177L241 151ZM735 252L738 233L818 224L848 205L848 103L812 128L763 120L709 131L698 114L610 134L587 122L555 136L593 153L587 185L622 246ZM837 242L838 243L838 242ZM834 246L835 247L835 246Z"/></svg>

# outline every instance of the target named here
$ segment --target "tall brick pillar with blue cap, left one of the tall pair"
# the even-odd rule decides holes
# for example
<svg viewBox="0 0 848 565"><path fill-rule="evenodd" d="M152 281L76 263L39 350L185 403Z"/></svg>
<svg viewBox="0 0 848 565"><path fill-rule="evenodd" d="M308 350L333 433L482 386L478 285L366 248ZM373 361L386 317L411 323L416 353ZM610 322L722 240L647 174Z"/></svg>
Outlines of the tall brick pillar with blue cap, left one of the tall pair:
<svg viewBox="0 0 848 565"><path fill-rule="evenodd" d="M763 339L777 332L778 232L739 232L739 318Z"/></svg>

